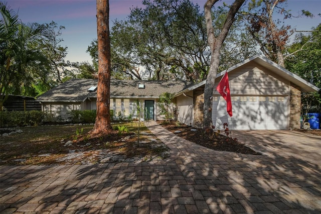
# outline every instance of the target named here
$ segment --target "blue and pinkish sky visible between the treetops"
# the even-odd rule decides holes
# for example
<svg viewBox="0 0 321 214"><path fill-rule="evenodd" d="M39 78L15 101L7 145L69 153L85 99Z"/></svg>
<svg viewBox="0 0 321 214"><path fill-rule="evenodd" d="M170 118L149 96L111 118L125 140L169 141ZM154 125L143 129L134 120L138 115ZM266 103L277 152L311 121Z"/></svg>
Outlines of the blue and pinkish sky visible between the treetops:
<svg viewBox="0 0 321 214"><path fill-rule="evenodd" d="M3 0L0 0L3 2ZM61 45L68 47L66 60L71 62L91 62L86 52L90 43L97 38L96 1L95 0L7 0L7 6L18 13L19 19L27 23L51 23L64 26ZM206 0L192 0L203 10ZM225 1L231 4L233 1ZM222 4L222 2L219 2ZM307 31L321 23L321 0L288 0L287 5L292 14L307 10L314 18L286 20L297 30ZM142 8L142 0L109 0L110 25L115 19L124 20L130 14L130 9ZM110 26L111 27L111 26Z"/></svg>

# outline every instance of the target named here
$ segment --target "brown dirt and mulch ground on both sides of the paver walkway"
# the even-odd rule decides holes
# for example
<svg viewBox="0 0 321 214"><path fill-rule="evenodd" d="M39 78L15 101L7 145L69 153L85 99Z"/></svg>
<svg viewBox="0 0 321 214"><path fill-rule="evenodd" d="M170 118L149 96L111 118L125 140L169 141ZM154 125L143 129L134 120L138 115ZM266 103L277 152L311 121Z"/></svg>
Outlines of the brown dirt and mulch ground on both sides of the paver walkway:
<svg viewBox="0 0 321 214"><path fill-rule="evenodd" d="M161 123L159 123L161 124ZM93 125L61 125L14 128L13 134L0 140L0 164L50 165L88 163L139 163L153 159L165 159L171 150L156 139L146 127L141 128L138 144L137 126L125 124L128 132L112 131L108 135L89 136ZM260 155L233 137L214 133L212 138L202 129L190 126L161 124L177 136L201 146L242 154ZM116 126L116 125L114 125ZM179 132L178 132L179 131ZM321 130L294 130L321 136ZM1 130L0 134L3 134Z"/></svg>

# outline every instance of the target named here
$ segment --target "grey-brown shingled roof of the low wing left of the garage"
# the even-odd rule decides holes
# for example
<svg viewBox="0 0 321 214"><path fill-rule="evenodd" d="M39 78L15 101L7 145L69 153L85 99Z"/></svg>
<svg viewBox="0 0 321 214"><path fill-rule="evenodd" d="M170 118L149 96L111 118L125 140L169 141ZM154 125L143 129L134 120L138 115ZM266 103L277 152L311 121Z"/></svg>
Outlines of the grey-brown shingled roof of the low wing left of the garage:
<svg viewBox="0 0 321 214"><path fill-rule="evenodd" d="M97 79L70 79L38 97L47 102L82 102L97 97L97 91L88 91L96 86ZM138 84L144 84L143 89ZM159 98L164 92L178 93L191 85L187 81L110 80L110 98Z"/></svg>

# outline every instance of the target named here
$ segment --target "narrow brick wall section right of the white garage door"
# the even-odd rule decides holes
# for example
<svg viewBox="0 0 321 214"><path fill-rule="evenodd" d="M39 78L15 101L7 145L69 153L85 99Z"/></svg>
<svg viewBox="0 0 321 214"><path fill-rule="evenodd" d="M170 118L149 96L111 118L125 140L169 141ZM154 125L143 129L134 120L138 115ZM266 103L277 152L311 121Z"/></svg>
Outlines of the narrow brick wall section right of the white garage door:
<svg viewBox="0 0 321 214"><path fill-rule="evenodd" d="M290 84L290 112L289 112L289 129L300 128L301 117L301 91L299 87Z"/></svg>

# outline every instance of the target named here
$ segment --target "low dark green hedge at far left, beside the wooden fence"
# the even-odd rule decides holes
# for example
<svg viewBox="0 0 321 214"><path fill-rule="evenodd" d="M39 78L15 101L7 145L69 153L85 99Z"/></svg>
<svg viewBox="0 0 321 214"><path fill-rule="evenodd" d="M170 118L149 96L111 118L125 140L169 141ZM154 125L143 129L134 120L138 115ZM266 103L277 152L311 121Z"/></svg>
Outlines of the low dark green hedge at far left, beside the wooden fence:
<svg viewBox="0 0 321 214"><path fill-rule="evenodd" d="M36 126L43 118L44 113L41 111L2 111L0 127Z"/></svg>

